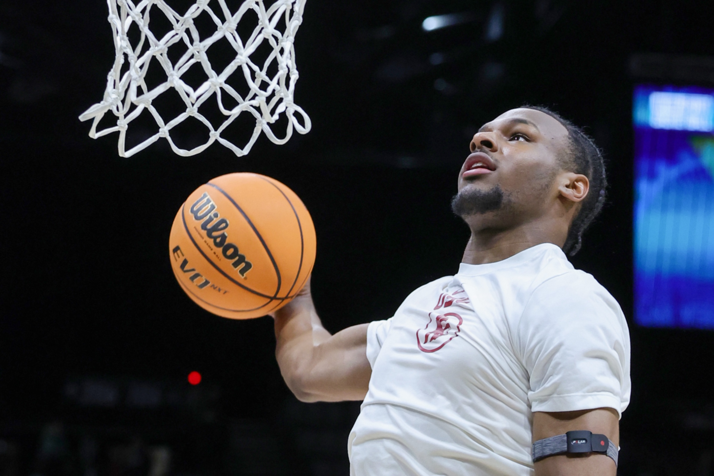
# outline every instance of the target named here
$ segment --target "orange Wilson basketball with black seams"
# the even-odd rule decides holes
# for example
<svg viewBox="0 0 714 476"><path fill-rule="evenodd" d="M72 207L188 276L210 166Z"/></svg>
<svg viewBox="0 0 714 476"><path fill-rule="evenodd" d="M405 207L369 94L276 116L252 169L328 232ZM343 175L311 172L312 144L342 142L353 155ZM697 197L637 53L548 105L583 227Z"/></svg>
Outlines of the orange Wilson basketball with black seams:
<svg viewBox="0 0 714 476"><path fill-rule="evenodd" d="M231 319L258 318L288 303L315 253L315 227L300 198L257 173L229 173L198 187L169 238L181 288L201 308Z"/></svg>

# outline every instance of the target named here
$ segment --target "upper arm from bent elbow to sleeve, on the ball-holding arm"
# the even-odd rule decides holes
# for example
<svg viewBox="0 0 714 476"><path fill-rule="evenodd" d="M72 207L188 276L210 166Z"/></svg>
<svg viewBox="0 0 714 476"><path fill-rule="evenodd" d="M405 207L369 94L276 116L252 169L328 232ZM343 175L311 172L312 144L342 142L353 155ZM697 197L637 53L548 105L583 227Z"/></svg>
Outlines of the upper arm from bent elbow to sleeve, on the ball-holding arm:
<svg viewBox="0 0 714 476"><path fill-rule="evenodd" d="M372 368L367 359L368 324L354 325L317 345L303 382L308 401L363 400Z"/></svg>

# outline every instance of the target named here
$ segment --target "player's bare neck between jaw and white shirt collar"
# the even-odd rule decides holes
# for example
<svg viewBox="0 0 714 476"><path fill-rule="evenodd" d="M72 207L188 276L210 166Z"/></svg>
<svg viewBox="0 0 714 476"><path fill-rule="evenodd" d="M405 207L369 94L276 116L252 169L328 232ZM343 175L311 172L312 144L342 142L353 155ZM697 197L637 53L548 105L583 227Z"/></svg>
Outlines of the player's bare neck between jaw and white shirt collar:
<svg viewBox="0 0 714 476"><path fill-rule="evenodd" d="M558 224L539 221L523 223L516 228L471 228L462 262L470 265L495 263L541 243L553 243L562 248L568 231L565 229L563 233Z"/></svg>

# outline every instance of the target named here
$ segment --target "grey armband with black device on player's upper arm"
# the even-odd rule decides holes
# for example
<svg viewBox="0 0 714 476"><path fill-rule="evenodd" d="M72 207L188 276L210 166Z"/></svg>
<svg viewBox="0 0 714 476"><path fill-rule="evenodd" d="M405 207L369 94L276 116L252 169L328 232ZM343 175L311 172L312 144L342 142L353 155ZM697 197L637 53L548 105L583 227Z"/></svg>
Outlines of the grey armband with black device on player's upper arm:
<svg viewBox="0 0 714 476"><path fill-rule="evenodd" d="M569 431L565 435L551 436L533 443L531 456L533 462L548 456L564 453L601 453L608 455L618 465L618 447L605 435L598 435L586 430Z"/></svg>

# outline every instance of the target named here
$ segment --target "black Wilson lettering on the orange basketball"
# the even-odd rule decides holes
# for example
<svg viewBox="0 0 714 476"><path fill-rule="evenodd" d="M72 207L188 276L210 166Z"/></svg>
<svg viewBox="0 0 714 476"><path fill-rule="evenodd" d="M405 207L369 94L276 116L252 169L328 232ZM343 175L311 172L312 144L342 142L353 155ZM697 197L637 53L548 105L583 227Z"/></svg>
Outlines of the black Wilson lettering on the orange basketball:
<svg viewBox="0 0 714 476"><path fill-rule="evenodd" d="M208 192L203 192L203 195L191 205L188 212L191 213L194 220L202 221L201 230L206 232L206 238L213 240L213 245L221 250L223 258L233 261L231 266L236 268L241 278L245 278L246 273L253 268L253 264L238 251L238 246L228 243L226 229L230 223L226 218L221 218L221 215L215 210L216 203L213 203Z"/></svg>

